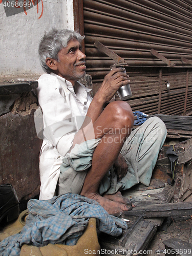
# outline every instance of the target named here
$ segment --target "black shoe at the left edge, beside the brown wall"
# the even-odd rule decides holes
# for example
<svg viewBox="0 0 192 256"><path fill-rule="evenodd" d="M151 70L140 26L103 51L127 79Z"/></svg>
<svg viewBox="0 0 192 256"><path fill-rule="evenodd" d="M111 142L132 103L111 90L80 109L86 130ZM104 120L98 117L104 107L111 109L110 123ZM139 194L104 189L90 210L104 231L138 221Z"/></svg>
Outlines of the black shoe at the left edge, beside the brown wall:
<svg viewBox="0 0 192 256"><path fill-rule="evenodd" d="M9 222L19 216L18 198L11 184L0 185L0 223Z"/></svg>

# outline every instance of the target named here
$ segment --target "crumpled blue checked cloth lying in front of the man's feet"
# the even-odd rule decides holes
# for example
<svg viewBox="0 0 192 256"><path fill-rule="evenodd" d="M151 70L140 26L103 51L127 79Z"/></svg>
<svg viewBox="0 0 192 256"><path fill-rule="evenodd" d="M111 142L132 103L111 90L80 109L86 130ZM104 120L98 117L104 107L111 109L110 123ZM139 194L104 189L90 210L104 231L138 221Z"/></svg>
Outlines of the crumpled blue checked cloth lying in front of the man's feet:
<svg viewBox="0 0 192 256"><path fill-rule="evenodd" d="M126 222L111 216L95 200L67 193L50 200L32 199L26 225L19 234L0 243L0 255L20 255L23 244L46 246L51 244L75 245L90 218L97 219L97 228L112 236L126 229Z"/></svg>

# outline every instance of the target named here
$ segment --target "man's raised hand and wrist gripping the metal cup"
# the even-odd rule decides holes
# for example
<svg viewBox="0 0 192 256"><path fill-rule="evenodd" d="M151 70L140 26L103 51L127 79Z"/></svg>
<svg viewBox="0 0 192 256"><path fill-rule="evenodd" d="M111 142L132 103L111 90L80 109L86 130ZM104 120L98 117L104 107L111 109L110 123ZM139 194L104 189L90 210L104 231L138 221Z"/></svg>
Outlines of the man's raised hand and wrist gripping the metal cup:
<svg viewBox="0 0 192 256"><path fill-rule="evenodd" d="M129 75L124 71L124 68L112 69L104 77L101 87L97 91L97 95L103 100L103 103L110 101L120 87L130 83Z"/></svg>

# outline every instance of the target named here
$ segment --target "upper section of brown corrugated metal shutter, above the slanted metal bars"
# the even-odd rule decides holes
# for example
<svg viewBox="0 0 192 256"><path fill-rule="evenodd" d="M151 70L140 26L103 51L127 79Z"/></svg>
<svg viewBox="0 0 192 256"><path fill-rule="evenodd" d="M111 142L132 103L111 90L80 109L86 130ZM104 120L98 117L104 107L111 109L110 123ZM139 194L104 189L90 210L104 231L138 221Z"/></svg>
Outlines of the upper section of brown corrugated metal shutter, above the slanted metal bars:
<svg viewBox="0 0 192 256"><path fill-rule="evenodd" d="M86 54L92 70L114 63L93 47L95 40L130 66L166 67L151 55L151 49L177 67L186 66L182 56L192 59L192 1L83 0L83 10Z"/></svg>

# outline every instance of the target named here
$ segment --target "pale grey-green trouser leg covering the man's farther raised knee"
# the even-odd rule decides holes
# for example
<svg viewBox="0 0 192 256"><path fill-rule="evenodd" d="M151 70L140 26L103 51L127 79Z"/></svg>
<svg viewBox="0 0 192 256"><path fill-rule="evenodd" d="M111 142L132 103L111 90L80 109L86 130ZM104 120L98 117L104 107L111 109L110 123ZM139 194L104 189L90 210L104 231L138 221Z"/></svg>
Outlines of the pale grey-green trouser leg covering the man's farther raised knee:
<svg viewBox="0 0 192 256"><path fill-rule="evenodd" d="M99 193L101 195L114 194L118 190L128 189L139 182L148 186L165 138L166 127L158 117L147 119L132 131L121 150L128 165L127 174L121 181L118 181L114 167L112 167L103 178Z"/></svg>

